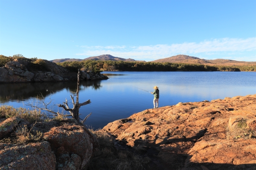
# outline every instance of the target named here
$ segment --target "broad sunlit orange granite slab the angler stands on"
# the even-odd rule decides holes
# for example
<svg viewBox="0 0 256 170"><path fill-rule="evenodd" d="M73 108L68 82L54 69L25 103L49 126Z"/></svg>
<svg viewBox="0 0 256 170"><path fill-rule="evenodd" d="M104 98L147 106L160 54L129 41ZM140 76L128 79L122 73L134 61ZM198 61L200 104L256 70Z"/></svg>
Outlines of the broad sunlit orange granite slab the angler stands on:
<svg viewBox="0 0 256 170"><path fill-rule="evenodd" d="M256 95L148 109L103 130L159 169L256 168Z"/></svg>

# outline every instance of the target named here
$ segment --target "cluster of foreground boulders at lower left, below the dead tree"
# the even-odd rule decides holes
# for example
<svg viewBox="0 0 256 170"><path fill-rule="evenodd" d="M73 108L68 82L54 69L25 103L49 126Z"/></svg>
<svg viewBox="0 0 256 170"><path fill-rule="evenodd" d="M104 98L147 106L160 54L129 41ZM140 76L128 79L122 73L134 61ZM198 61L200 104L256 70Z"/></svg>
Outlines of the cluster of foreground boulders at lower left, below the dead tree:
<svg viewBox="0 0 256 170"><path fill-rule="evenodd" d="M23 119L11 117L1 120L2 137L18 132ZM19 123L21 122L21 123ZM12 127L9 130L9 127ZM96 138L75 119L62 119L60 122L38 122L30 125L30 135L42 133L44 141L34 143L0 142L0 169L19 170L81 170L88 163L99 144ZM6 130L7 129L7 130ZM14 135L11 135L14 136ZM40 139L38 139L40 140Z"/></svg>

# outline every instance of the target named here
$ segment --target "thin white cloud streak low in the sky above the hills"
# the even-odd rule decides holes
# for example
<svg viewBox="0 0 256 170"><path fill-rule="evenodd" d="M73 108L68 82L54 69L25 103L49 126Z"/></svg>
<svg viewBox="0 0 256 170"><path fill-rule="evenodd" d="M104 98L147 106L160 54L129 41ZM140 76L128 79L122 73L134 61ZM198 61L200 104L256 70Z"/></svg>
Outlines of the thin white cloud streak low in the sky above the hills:
<svg viewBox="0 0 256 170"><path fill-rule="evenodd" d="M205 40L202 42L184 42L180 44L159 44L159 45L145 45L145 46L81 46L84 50L82 56L97 56L101 54L111 54L115 57L133 58L138 60L154 60L165 57L171 57L177 54L186 54L209 58L211 55L231 55L230 53L239 53L236 58L242 58L250 53L247 59L251 61L256 60L256 37L247 39L238 38L222 38ZM229 54L228 54L229 53ZM220 58L220 57L217 57Z"/></svg>

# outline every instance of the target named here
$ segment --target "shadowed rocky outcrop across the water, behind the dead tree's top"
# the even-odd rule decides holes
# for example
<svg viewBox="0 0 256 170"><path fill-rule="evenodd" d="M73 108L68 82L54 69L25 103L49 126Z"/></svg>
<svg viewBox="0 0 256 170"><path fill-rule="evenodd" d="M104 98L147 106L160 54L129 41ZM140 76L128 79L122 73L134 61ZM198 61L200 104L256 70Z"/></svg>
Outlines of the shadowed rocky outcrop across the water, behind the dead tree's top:
<svg viewBox="0 0 256 170"><path fill-rule="evenodd" d="M77 72L75 71L69 71L45 59L38 59L38 63L39 64L28 62L26 58L14 59L13 61L7 62L4 67L0 67L0 83L61 82L77 80ZM43 69L40 67L43 67ZM81 79L96 80L108 79L108 77L100 73L82 71Z"/></svg>

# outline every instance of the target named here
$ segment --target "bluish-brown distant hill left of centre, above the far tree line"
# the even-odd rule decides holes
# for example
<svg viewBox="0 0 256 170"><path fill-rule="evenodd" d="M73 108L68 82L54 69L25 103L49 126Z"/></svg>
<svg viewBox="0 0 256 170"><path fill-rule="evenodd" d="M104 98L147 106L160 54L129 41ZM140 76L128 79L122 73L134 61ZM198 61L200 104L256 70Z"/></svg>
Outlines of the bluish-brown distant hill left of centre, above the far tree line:
<svg viewBox="0 0 256 170"><path fill-rule="evenodd" d="M66 62L66 61L82 61L82 60L88 60L88 59L91 59L91 60L112 60L112 61L138 61L138 60L135 60L135 59L124 59L124 58L120 58L120 57L114 57L114 56L111 56L109 54L103 54L103 55L100 55L100 56L94 56L94 57L88 57L88 58L85 58L85 59L69 59L69 58L66 58L66 59L53 59L53 60L50 60L51 62ZM139 61L139 62L145 62L145 61Z"/></svg>

